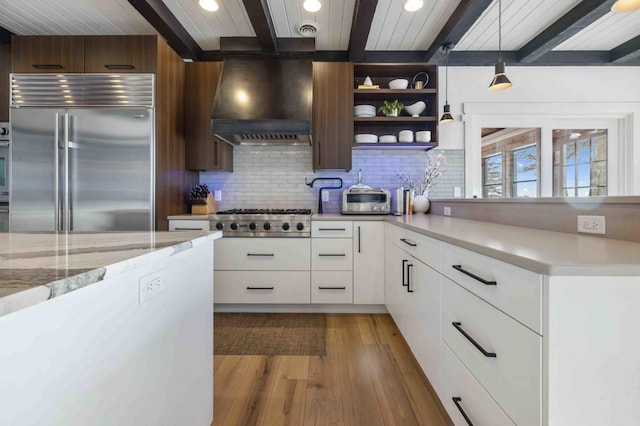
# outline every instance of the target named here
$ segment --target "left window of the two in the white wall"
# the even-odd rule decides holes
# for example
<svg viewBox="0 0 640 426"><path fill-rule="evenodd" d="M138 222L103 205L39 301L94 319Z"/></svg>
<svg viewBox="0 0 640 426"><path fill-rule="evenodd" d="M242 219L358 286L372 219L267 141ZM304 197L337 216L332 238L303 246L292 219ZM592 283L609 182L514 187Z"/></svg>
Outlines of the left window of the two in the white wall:
<svg viewBox="0 0 640 426"><path fill-rule="evenodd" d="M537 197L540 129L482 129L482 196Z"/></svg>

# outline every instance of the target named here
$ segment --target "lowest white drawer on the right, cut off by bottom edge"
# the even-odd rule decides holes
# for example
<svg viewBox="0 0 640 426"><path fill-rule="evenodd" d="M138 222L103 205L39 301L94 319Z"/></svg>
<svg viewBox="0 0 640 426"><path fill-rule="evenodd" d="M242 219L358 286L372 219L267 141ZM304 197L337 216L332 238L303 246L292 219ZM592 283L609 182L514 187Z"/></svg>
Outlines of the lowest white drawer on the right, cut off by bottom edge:
<svg viewBox="0 0 640 426"><path fill-rule="evenodd" d="M465 415L474 425L514 425L444 342L442 342L441 359L442 393L440 397L442 405L455 425L467 426L469 422L464 418Z"/></svg>

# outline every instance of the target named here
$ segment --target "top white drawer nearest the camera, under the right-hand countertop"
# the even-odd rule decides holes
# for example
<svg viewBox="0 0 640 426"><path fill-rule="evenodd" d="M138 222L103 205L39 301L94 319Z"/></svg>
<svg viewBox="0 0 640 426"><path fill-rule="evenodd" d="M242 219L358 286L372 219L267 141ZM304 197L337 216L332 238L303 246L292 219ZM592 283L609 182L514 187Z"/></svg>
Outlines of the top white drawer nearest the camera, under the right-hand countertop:
<svg viewBox="0 0 640 426"><path fill-rule="evenodd" d="M441 264L442 274L542 334L540 274L446 243Z"/></svg>

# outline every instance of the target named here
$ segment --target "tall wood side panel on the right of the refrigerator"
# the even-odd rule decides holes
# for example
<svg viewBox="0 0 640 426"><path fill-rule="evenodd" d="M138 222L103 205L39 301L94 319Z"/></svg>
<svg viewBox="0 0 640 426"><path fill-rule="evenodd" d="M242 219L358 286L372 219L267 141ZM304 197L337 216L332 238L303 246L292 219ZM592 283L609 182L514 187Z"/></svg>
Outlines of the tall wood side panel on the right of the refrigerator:
<svg viewBox="0 0 640 426"><path fill-rule="evenodd" d="M156 223L187 213L186 194L199 180L185 169L185 66L163 40L157 41L156 71Z"/></svg>

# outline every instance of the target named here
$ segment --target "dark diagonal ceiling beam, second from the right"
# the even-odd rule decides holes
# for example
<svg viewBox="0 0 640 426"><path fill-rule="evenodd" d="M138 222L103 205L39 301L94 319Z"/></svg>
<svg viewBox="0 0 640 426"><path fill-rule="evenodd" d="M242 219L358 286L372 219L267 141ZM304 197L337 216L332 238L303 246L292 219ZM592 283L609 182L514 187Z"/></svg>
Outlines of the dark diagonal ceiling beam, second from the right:
<svg viewBox="0 0 640 426"><path fill-rule="evenodd" d="M518 62L531 63L551 52L611 10L609 0L581 1L518 51Z"/></svg>

